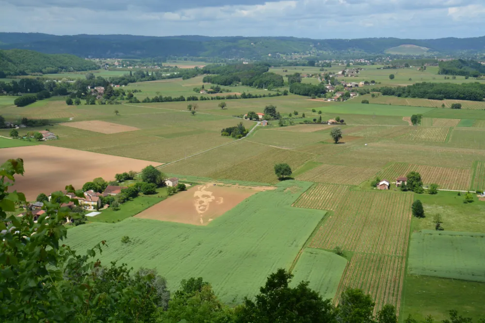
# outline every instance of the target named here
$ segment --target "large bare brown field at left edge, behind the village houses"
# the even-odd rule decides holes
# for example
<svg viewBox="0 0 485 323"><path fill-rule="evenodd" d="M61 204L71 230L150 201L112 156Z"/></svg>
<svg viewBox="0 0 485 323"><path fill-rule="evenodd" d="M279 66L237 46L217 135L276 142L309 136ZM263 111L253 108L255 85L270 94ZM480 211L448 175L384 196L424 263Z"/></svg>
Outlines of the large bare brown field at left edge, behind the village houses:
<svg viewBox="0 0 485 323"><path fill-rule="evenodd" d="M0 154L2 160L24 160L25 174L16 177L14 189L24 193L27 200L35 200L39 193L49 195L63 190L66 185L81 189L84 183L96 177L113 181L116 173L140 171L148 165L161 165L140 159L44 145L4 148Z"/></svg>

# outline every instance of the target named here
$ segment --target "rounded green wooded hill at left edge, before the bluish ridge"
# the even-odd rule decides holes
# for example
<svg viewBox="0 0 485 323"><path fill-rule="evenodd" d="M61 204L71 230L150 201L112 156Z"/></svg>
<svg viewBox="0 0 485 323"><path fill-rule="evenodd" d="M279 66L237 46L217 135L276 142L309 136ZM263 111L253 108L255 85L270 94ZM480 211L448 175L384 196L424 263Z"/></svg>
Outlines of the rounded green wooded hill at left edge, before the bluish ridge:
<svg viewBox="0 0 485 323"><path fill-rule="evenodd" d="M88 71L98 66L75 55L44 54L33 50L0 50L0 74L5 76L60 71Z"/></svg>

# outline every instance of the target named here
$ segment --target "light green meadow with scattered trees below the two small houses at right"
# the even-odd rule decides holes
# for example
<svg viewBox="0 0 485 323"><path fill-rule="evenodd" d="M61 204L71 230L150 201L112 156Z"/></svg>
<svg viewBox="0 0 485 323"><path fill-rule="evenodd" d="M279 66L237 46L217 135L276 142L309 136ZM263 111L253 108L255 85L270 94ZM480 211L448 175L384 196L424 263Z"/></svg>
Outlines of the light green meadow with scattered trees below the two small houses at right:
<svg viewBox="0 0 485 323"><path fill-rule="evenodd" d="M475 196L474 202L463 203L464 193L458 196L457 192L439 191L436 195L415 195L415 200L423 203L426 217L413 217L413 231L435 229L433 216L439 213L445 231L485 232L485 202Z"/></svg>

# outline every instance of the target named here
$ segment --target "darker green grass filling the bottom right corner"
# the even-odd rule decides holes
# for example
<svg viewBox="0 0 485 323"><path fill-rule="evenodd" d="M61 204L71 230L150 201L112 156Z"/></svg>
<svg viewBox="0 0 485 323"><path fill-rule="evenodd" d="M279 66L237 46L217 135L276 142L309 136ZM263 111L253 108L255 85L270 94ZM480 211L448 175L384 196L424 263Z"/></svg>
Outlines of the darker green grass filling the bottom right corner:
<svg viewBox="0 0 485 323"><path fill-rule="evenodd" d="M449 319L450 309L477 320L485 317L484 299L485 283L407 275L400 322L409 315L420 322L432 315L435 322L441 322Z"/></svg>

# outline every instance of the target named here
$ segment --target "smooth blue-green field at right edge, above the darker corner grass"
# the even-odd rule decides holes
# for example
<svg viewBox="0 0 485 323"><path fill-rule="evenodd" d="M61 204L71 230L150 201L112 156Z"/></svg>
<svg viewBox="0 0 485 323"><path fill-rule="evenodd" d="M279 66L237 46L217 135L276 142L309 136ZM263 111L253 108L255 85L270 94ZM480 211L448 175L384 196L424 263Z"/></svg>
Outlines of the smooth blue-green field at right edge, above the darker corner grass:
<svg viewBox="0 0 485 323"><path fill-rule="evenodd" d="M422 230L411 235L408 272L485 282L485 234Z"/></svg>

